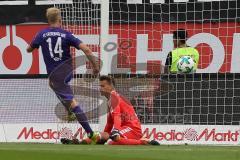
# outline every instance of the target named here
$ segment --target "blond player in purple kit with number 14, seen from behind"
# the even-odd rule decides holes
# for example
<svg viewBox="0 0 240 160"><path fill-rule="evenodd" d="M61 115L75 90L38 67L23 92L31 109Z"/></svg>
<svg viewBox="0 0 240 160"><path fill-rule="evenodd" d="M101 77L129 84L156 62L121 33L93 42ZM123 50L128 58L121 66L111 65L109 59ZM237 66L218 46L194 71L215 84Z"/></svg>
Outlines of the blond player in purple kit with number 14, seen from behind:
<svg viewBox="0 0 240 160"><path fill-rule="evenodd" d="M70 47L81 49L85 53L93 66L94 74L99 73L99 65L92 55L92 51L81 40L76 38L71 32L60 28L61 13L59 9L47 9L46 16L49 27L37 33L28 46L27 52L32 52L41 46L50 87L65 108L67 110L70 109L75 114L77 120L87 132L88 137L94 139L97 133L91 129L85 113L74 99L73 92L68 84L73 76Z"/></svg>

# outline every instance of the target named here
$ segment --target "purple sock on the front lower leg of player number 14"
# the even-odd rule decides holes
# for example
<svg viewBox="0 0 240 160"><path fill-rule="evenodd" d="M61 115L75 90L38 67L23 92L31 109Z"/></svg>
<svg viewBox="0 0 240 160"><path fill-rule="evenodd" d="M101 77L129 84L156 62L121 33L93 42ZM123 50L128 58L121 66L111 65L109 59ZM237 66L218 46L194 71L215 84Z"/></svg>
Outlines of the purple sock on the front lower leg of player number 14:
<svg viewBox="0 0 240 160"><path fill-rule="evenodd" d="M87 116L82 111L82 109L79 106L76 106L72 109L72 111L75 113L78 122L82 125L82 127L85 129L88 135L92 135L93 131L88 123Z"/></svg>

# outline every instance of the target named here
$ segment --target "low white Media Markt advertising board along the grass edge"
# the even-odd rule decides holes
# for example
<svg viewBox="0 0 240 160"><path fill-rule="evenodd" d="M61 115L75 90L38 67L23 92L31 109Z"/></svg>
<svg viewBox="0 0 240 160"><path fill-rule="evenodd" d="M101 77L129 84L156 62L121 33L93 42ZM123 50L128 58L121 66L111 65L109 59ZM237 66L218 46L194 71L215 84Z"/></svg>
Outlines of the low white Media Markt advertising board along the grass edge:
<svg viewBox="0 0 240 160"><path fill-rule="evenodd" d="M3 124L0 142L59 143L60 138L86 138L78 124L20 123ZM99 126L92 124L96 130ZM227 125L143 125L143 137L161 144L217 144L239 145L239 126Z"/></svg>

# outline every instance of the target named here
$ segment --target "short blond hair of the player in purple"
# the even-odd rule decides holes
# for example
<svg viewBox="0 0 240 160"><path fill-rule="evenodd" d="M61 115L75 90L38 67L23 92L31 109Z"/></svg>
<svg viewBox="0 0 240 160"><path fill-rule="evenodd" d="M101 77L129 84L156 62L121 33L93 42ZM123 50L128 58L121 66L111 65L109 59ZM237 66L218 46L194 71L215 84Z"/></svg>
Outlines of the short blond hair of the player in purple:
<svg viewBox="0 0 240 160"><path fill-rule="evenodd" d="M60 9L54 7L48 8L46 12L46 17L48 23L56 23L59 19L61 19Z"/></svg>

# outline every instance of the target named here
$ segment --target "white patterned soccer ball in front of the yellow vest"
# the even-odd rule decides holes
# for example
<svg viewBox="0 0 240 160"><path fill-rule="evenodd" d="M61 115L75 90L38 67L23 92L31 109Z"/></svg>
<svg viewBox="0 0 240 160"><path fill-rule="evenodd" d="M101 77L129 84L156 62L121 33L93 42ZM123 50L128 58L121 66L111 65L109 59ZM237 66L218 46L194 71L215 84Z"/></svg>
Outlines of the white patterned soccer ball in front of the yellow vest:
<svg viewBox="0 0 240 160"><path fill-rule="evenodd" d="M195 61L190 56L183 56L177 62L177 68L180 73L192 73Z"/></svg>

